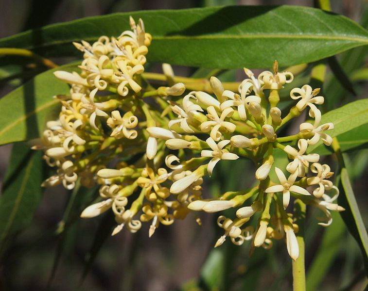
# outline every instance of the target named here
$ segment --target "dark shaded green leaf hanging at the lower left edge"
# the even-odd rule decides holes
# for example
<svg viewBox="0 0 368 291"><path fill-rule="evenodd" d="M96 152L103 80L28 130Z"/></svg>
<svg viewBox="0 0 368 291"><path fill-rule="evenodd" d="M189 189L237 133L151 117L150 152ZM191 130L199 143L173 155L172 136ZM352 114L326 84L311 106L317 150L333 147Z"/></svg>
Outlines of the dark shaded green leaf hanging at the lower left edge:
<svg viewBox="0 0 368 291"><path fill-rule="evenodd" d="M27 226L41 199L42 152L15 144L0 197L0 249L10 236Z"/></svg>

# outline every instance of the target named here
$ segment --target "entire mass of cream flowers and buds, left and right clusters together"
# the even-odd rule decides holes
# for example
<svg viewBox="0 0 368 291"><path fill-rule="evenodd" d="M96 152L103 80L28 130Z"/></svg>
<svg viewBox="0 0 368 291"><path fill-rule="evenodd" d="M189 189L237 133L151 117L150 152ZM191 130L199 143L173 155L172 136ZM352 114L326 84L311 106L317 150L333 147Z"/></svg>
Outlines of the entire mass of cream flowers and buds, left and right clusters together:
<svg viewBox="0 0 368 291"><path fill-rule="evenodd" d="M80 73L54 73L71 88L69 96L55 97L61 102L58 119L47 123L34 145L45 151L49 165L57 167L43 185L62 183L73 189L78 181L86 187L99 184L99 197L81 216L113 211L117 225L112 235L123 226L136 232L149 222L152 236L160 224L171 225L190 211L237 208L233 219L218 217L224 235L215 246L230 237L237 245L252 241L255 247L270 248L273 239L285 238L290 256L297 259L298 226L288 210L291 197L322 210L322 226L331 224L330 210L343 210L333 203L338 196L328 180L333 172L318 163L318 154L308 151L320 139L325 145L332 143L325 131L333 124L320 125L316 105L324 98L318 96L319 89L304 85L291 90L290 97L298 102L283 114L277 107L279 90L294 76L279 72L277 63L273 72L264 71L258 78L245 69L248 78L236 92L211 77L207 92L186 94L185 85L175 84L171 66L164 64L171 87L156 88L145 78L143 66L152 37L142 20L137 25L130 18L130 26L131 31L117 38L102 36L92 45L74 43L84 53ZM306 109L312 123L301 123L297 134L278 136ZM290 159L286 169L275 167L275 150ZM256 164L257 185L204 199L203 178L211 176L221 160L239 158ZM271 171L277 181L271 181ZM330 197L329 191L336 194ZM258 219L256 228L245 225L252 217Z"/></svg>

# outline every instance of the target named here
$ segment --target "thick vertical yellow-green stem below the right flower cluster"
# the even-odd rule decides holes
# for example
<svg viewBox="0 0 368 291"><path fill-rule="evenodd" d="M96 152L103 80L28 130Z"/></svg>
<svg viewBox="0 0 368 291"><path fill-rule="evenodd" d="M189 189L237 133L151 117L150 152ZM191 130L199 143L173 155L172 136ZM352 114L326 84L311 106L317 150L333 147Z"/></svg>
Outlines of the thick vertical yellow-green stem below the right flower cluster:
<svg viewBox="0 0 368 291"><path fill-rule="evenodd" d="M304 224L306 205L299 199L294 202L294 214L299 226L297 241L299 246L299 257L293 260L293 291L305 291L305 261L304 261Z"/></svg>

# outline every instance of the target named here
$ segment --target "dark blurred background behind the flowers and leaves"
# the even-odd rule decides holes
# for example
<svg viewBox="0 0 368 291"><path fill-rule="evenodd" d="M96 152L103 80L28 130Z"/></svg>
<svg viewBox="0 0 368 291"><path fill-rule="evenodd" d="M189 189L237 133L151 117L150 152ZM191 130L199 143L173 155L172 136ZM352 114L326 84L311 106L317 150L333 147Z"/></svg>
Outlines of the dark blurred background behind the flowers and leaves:
<svg viewBox="0 0 368 291"><path fill-rule="evenodd" d="M0 37L86 16L225 4L313 6L314 1L1 0ZM362 18L366 6L367 3L362 0L332 1L333 12L363 25L365 23L367 27L367 13L365 19ZM125 29L122 28L122 31ZM347 52L340 56L340 60L349 63L349 57L353 54L353 51ZM73 59L53 61L63 65ZM360 65L366 66L367 63ZM194 68L174 68L177 75L188 76L195 71ZM159 65L153 65L152 69L159 69ZM222 73L219 78L240 81L241 76L241 72L232 70ZM20 80L6 82L3 72L0 72L0 78L1 97L20 84ZM367 85L361 82L355 85L358 98L363 97L367 93ZM353 98L331 74L325 89L325 94L330 90L331 94L344 96L345 102ZM11 148L11 145L0 147L0 180L4 176ZM364 221L367 221L368 184L364 177L367 177L368 152L352 151L346 154L346 158L351 162L354 191ZM326 158L326 161L336 164L333 157ZM214 176L208 179L210 183L204 187L205 196L250 186L254 170L253 165L243 160L231 165L222 161ZM228 175L229 171L231 175ZM218 214L199 213L202 226L196 224L194 215L189 215L185 221L175 221L170 227L160 226L150 239L147 226L133 235L122 231L114 237L106 236L102 231L104 218L79 219L69 228L67 235L58 235L69 199L70 193L62 187L44 193L32 224L18 234L2 257L0 290L235 291L292 288L291 261L282 241L275 242L268 251L256 249L252 256L249 256L247 242L237 247L228 240L213 249L222 235L215 222ZM328 229L317 225L315 213L309 211L307 216L306 267L310 290L363 290L367 279L360 249L339 214L333 216L333 224ZM324 275L325 272L327 275Z"/></svg>

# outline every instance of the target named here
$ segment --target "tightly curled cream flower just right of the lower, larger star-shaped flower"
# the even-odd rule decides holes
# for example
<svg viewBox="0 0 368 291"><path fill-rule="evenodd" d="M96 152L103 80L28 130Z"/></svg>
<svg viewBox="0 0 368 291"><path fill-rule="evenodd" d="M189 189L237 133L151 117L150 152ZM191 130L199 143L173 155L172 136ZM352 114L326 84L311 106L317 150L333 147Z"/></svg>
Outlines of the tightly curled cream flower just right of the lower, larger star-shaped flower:
<svg viewBox="0 0 368 291"><path fill-rule="evenodd" d="M318 184L319 187L317 187L313 191L313 195L317 198L320 198L325 193L325 190L332 189L333 183L326 179L331 178L333 176L333 172L331 172L331 168L329 165L327 164L321 165L320 163L317 162L311 165L311 171L317 174L317 176L307 178L307 183L308 185Z"/></svg>

